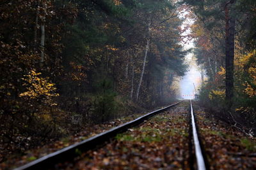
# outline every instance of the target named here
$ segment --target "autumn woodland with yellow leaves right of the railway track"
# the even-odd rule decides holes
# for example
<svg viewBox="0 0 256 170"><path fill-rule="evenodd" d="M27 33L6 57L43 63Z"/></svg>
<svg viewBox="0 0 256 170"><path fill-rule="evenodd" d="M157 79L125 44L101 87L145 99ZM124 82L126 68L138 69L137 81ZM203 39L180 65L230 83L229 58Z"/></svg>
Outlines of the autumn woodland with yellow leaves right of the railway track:
<svg viewBox="0 0 256 170"><path fill-rule="evenodd" d="M256 1L187 1L202 71L200 102L216 117L256 133ZM205 80L204 75L207 75Z"/></svg>

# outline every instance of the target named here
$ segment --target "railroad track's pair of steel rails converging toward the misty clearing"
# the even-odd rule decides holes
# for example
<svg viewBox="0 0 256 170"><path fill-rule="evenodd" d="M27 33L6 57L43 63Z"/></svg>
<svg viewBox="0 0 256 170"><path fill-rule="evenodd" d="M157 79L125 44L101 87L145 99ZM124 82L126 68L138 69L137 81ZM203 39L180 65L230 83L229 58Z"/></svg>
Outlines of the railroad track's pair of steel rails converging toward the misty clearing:
<svg viewBox="0 0 256 170"><path fill-rule="evenodd" d="M181 102L182 101L180 101L179 103ZM175 103L170 106L166 106L165 108L147 113L142 117L132 120L131 122L127 122L126 124L119 125L118 127L115 127L106 132L102 132L97 136L93 136L92 138L81 141L80 143L76 143L74 145L68 146L67 148L63 148L57 152L46 155L24 166L18 167L17 170L50 169L54 167L54 165L58 164L59 162L72 161L75 157L79 156L79 154L81 155L82 152L99 148L100 146L104 145L106 142L113 139L113 137L115 137L117 134L125 132L127 131L127 129L131 129L132 127L136 127L141 123L145 122L145 120L148 120L148 118L151 118L157 115L158 113L163 113L164 111L172 108L173 106L177 106L177 104L179 103ZM199 135L196 130L195 115L193 114L193 107L192 107L191 101L190 101L189 108L190 108L189 109L190 113L188 112L188 110L186 111L187 112L186 115L190 117L189 121L191 124L189 127L189 135L188 135L189 155L190 155L189 161L188 161L190 165L189 167L191 169L204 170L204 169L207 169L207 164L205 164L204 151L202 151Z"/></svg>

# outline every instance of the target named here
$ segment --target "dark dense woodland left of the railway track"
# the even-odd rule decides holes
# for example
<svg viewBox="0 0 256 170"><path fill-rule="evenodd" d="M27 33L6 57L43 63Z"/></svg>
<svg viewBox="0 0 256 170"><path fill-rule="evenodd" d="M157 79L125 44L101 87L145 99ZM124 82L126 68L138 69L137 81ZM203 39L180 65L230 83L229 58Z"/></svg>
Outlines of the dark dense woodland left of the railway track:
<svg viewBox="0 0 256 170"><path fill-rule="evenodd" d="M70 134L74 115L84 126L169 104L186 71L182 10L164 0L1 1L1 142L17 151Z"/></svg>

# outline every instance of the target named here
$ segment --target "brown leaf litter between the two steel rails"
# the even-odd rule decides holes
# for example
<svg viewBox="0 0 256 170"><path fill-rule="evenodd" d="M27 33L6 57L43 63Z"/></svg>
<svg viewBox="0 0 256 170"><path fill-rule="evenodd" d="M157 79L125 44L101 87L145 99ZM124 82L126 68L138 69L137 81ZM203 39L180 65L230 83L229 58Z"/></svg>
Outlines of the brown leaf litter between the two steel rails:
<svg viewBox="0 0 256 170"><path fill-rule="evenodd" d="M56 169L189 169L188 103L118 134L97 150Z"/></svg>

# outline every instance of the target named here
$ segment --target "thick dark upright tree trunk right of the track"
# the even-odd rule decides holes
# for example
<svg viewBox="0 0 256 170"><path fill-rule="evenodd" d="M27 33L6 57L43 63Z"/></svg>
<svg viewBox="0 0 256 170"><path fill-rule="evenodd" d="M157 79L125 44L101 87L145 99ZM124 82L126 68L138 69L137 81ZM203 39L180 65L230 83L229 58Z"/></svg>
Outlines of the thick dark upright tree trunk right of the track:
<svg viewBox="0 0 256 170"><path fill-rule="evenodd" d="M225 37L225 69L226 69L226 103L228 109L231 108L234 97L234 39L235 39L235 25L236 18L232 4L235 4L235 1L230 1L225 5L225 21L226 21L226 37Z"/></svg>

